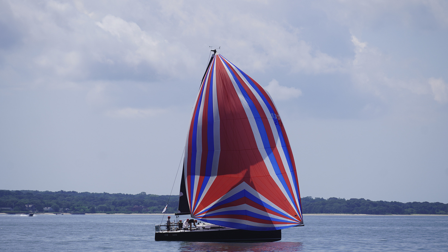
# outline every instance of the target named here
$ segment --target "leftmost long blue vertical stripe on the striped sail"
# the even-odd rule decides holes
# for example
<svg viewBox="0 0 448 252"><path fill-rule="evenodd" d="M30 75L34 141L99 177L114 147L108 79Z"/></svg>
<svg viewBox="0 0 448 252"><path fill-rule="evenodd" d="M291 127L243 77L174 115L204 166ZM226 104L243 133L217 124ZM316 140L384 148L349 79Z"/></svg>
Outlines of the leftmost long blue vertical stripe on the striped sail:
<svg viewBox="0 0 448 252"><path fill-rule="evenodd" d="M196 111L194 113L194 123L193 123L193 132L191 137L191 165L190 165L190 211L193 212L193 192L194 192L194 175L196 174L196 154L198 152L198 143L197 143L197 137L198 137L198 118L199 118L199 111L201 111L201 101L202 101L202 94L204 93L204 86L205 86L205 80L207 78L204 78L204 82L202 83L202 89L201 94L199 95L198 99L198 107L196 108Z"/></svg>

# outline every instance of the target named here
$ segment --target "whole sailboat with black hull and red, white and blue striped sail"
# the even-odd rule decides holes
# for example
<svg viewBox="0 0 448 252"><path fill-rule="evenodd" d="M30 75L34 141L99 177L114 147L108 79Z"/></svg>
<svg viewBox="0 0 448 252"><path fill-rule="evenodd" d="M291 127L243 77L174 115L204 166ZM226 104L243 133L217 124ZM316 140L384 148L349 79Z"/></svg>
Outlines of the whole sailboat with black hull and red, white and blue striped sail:
<svg viewBox="0 0 448 252"><path fill-rule="evenodd" d="M156 225L155 240L278 241L282 229L304 225L283 122L269 93L212 51L186 137L176 214L200 224Z"/></svg>

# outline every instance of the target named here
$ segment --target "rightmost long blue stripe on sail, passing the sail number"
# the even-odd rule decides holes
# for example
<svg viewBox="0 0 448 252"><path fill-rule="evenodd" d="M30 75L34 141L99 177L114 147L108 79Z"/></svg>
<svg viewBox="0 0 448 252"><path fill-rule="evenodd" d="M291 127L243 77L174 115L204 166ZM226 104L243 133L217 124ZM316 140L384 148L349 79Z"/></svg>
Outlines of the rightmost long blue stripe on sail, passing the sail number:
<svg viewBox="0 0 448 252"><path fill-rule="evenodd" d="M235 68L237 68L237 67L235 66ZM258 89L258 87L254 84L254 82L250 79L250 77L246 73L241 71L240 68L237 68L237 69L246 78L247 82L254 88L254 90L258 93L258 95L263 99L263 102L266 105L266 107L269 110L269 112L271 114L275 114L274 109L271 107L271 104L269 104L269 102L267 101L267 98L263 95L261 90ZM281 143L281 146L282 146L282 149L283 149L286 161L288 162L289 171L293 172L293 164L291 162L291 157L289 156L289 151L288 151L288 148L286 147L286 142L284 141L283 132L281 131L281 128L280 128L279 124L276 124L276 129L277 129L277 134L278 134L278 136L280 138L280 143ZM278 175L277 172L276 172L276 174ZM280 179L280 176L277 176L277 177L279 177L279 179ZM283 179L283 176L281 176L281 177L282 177L281 179ZM298 197L299 196L299 191L298 191L299 187L297 185L297 181L296 181L294 173L293 173L292 177L293 177L293 183L294 183L294 188L295 188L295 191L296 191L296 195ZM289 193L288 187L285 187L285 190L288 191L288 195L289 195L290 200L292 202L294 202L293 196ZM300 204L300 203L297 202L297 204ZM297 213L299 213L299 210L297 209L297 205L294 204L294 208L296 209Z"/></svg>

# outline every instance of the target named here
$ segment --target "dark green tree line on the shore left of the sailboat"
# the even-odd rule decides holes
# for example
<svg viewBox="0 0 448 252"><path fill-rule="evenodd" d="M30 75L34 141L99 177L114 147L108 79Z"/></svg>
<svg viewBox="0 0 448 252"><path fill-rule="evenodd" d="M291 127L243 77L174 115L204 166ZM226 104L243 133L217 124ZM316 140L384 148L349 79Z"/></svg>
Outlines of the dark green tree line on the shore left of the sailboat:
<svg viewBox="0 0 448 252"><path fill-rule="evenodd" d="M169 203L168 203L169 199ZM161 213L168 203L167 213L177 212L179 196L155 195L140 192L138 194L96 193L96 192L41 192L30 190L0 190L0 207L14 208L13 211L29 211L33 205L35 211L43 212L51 207L55 212L70 213ZM28 205L28 207L26 207ZM3 209L3 212L8 210Z"/></svg>

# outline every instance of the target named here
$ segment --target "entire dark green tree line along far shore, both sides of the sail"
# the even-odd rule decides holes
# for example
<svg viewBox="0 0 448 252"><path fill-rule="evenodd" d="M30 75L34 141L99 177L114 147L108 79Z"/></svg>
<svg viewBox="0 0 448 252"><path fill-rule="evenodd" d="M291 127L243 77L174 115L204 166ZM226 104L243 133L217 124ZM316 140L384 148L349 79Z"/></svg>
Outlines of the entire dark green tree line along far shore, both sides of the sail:
<svg viewBox="0 0 448 252"><path fill-rule="evenodd" d="M168 201L169 200L169 201ZM434 202L370 201L361 199L303 197L304 214L448 214L448 204ZM179 196L96 192L41 192L30 190L0 190L1 212L43 212L51 207L55 212L71 213L166 213L177 212ZM12 210L9 208L13 208Z"/></svg>

